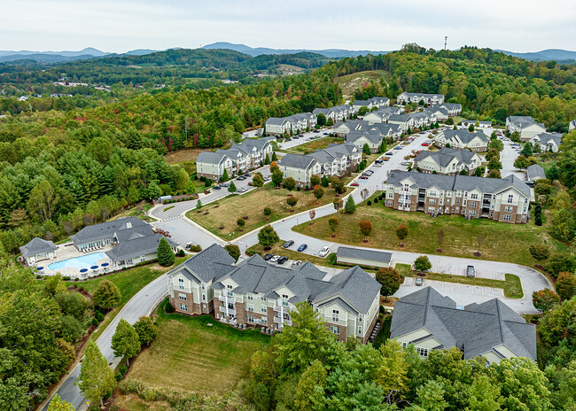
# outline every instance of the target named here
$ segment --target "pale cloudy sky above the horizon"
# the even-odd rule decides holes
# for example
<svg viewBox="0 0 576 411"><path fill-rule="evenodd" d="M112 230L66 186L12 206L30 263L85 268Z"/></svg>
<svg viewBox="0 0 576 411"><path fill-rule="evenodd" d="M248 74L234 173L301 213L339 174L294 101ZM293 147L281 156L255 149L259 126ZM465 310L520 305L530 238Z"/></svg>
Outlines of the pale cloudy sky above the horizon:
<svg viewBox="0 0 576 411"><path fill-rule="evenodd" d="M164 50L215 42L290 49L576 50L574 0L0 0L0 50Z"/></svg>

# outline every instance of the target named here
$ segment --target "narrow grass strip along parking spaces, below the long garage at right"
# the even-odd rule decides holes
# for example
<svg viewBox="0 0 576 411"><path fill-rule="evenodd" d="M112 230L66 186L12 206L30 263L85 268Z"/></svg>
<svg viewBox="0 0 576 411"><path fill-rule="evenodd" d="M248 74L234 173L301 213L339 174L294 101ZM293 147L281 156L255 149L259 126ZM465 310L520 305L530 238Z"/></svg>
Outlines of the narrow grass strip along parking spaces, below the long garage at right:
<svg viewBox="0 0 576 411"><path fill-rule="evenodd" d="M416 273L410 270L408 264L396 264L396 270L400 275L416 277ZM447 283L459 283L469 285L479 285L481 287L500 288L504 291L504 297L509 299L522 299L524 291L518 275L506 274L505 280L493 280L490 278L467 277L464 275L448 275L439 273L426 273L426 278Z"/></svg>

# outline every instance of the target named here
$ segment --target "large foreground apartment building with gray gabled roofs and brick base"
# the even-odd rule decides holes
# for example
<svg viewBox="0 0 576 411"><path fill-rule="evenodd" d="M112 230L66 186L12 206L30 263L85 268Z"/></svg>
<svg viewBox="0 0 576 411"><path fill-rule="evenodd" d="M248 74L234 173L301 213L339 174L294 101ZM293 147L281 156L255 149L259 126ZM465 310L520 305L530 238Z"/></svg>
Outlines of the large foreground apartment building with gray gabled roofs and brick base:
<svg viewBox="0 0 576 411"><path fill-rule="evenodd" d="M235 263L214 244L170 270L167 283L178 313L281 331L292 325L295 305L307 301L340 340L365 343L378 317L380 284L359 267L325 277L309 262L284 268L254 255Z"/></svg>

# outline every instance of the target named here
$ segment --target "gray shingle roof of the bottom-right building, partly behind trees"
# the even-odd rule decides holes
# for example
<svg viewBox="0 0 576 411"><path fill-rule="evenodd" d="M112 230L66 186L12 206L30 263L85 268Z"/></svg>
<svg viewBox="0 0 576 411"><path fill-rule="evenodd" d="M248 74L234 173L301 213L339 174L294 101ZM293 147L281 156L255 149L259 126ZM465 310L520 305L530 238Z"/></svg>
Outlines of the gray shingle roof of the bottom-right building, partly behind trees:
<svg viewBox="0 0 576 411"><path fill-rule="evenodd" d="M536 330L499 299L457 309L455 301L425 287L394 305L391 337L428 330L444 348L456 346L469 360L505 345L519 357L536 358ZM501 353L497 353L502 356Z"/></svg>

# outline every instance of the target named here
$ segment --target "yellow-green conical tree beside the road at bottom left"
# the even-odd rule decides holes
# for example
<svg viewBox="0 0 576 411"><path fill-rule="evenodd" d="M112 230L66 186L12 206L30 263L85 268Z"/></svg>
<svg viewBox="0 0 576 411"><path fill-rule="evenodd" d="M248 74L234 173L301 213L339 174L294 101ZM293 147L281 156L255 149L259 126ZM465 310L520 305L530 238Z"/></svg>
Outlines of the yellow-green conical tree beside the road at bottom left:
<svg viewBox="0 0 576 411"><path fill-rule="evenodd" d="M86 398L94 404L104 404L102 398L116 388L114 372L94 341L89 341L84 350L84 360L78 376L78 386Z"/></svg>

